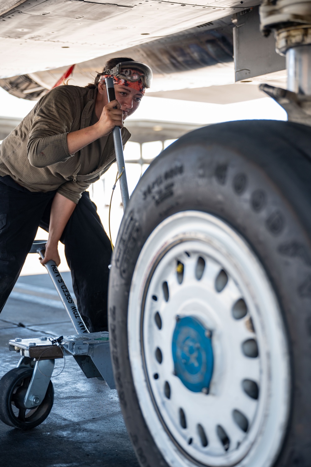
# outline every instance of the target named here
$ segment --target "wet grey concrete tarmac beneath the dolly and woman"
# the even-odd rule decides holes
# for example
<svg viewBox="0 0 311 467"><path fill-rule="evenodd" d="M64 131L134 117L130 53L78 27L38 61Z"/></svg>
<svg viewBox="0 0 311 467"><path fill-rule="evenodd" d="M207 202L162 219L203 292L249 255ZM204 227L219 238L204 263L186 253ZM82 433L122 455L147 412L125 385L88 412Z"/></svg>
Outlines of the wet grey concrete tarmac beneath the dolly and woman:
<svg viewBox="0 0 311 467"><path fill-rule="evenodd" d="M70 273L62 274L72 291ZM16 337L72 335L74 328L48 275L21 276L0 314L0 377L19 354L8 350ZM0 421L0 465L22 467L139 467L117 392L87 379L70 356L56 360L54 405L46 420L21 431Z"/></svg>

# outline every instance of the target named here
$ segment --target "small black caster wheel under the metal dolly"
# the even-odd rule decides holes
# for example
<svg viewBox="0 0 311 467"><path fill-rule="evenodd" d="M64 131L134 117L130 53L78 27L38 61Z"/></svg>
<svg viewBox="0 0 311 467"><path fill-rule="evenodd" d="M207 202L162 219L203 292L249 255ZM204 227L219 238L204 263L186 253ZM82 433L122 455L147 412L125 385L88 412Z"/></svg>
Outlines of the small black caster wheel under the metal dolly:
<svg viewBox="0 0 311 467"><path fill-rule="evenodd" d="M0 380L0 419L21 430L30 430L40 425L49 415L54 402L54 389L50 381L40 405L33 409L24 406L32 374L31 368L13 368Z"/></svg>

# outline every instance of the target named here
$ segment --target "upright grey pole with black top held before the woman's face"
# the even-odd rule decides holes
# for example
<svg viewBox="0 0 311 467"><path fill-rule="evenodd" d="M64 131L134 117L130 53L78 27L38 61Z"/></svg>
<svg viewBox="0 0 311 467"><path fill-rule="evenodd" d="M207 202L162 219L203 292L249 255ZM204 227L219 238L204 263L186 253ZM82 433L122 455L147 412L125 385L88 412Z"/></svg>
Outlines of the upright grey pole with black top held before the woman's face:
<svg viewBox="0 0 311 467"><path fill-rule="evenodd" d="M111 100L116 99L115 86L113 84L113 78L105 78L105 81L106 81L108 102L110 102ZM118 166L118 173L120 177L119 182L120 182L120 189L121 189L123 211L125 211L126 206L129 202L130 196L129 196L129 189L127 186L125 163L124 163L124 156L123 156L123 144L122 144L120 127L114 127L114 129L112 130L112 134L113 134L113 141L115 143L115 149L116 149L116 164Z"/></svg>

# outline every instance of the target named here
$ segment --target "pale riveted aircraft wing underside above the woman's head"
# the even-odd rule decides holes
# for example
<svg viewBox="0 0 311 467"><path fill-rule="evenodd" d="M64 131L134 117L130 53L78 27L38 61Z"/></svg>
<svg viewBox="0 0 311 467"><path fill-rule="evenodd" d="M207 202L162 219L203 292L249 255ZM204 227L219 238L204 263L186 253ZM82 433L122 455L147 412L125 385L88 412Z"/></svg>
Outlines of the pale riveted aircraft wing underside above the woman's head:
<svg viewBox="0 0 311 467"><path fill-rule="evenodd" d="M115 1L26 0L13 6L10 0L1 3L0 77L84 62L258 4L258 0Z"/></svg>

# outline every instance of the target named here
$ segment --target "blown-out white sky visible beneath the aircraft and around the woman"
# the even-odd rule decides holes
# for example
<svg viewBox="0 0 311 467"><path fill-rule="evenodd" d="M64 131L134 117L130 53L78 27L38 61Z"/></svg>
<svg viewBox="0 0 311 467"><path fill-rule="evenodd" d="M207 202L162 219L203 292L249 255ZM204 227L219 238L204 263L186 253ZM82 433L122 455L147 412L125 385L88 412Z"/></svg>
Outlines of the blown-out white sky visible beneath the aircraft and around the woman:
<svg viewBox="0 0 311 467"><path fill-rule="evenodd" d="M2 117L23 118L35 105L35 101L18 99L0 88L0 116ZM197 123L204 125L208 123L220 123L230 120L245 119L287 120L287 115L282 107L270 98L222 105L145 96L136 113L134 113L130 118ZM170 142L171 141L167 141L166 144L169 144ZM162 143L160 142L145 143L142 148L143 157L155 157L159 154L161 149ZM139 153L139 144L129 142L124 151L125 160L136 159L139 157ZM142 166L143 171L145 171L147 167L148 166L144 164ZM91 198L97 205L98 213L106 232L108 232L108 206L111 196L111 188L116 177L116 170L116 164L113 164L105 173L103 178L91 185L89 189ZM141 167L139 164L128 163L126 171L129 191L131 193L141 175ZM112 241L115 243L118 228L123 216L119 190L115 190L111 212ZM47 239L47 233L39 229L36 238ZM60 270L66 271L68 270L68 266L65 261L64 246L61 243L59 243L59 252L62 260ZM37 255L28 255L22 269L22 275L43 273L46 273L46 269L38 262Z"/></svg>

